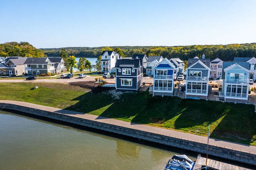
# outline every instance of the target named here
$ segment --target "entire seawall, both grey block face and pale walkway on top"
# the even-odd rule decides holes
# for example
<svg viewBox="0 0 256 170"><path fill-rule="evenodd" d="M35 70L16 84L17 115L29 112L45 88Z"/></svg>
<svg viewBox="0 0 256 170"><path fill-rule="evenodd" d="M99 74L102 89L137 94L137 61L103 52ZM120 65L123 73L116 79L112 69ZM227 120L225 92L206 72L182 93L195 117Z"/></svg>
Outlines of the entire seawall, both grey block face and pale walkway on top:
<svg viewBox="0 0 256 170"><path fill-rule="evenodd" d="M0 109L1 108L21 111L32 115L73 123L75 125L81 125L84 127L117 133L128 137L143 139L154 143L160 143L167 146L191 150L201 154L206 154L207 150L207 137L198 135L150 127L146 125L132 124L114 119L107 119L104 117L57 109L53 107L40 106L36 104L29 104L25 102L1 100ZM256 165L256 147L254 146L240 145L237 143L210 139L208 154L226 158L228 160Z"/></svg>

